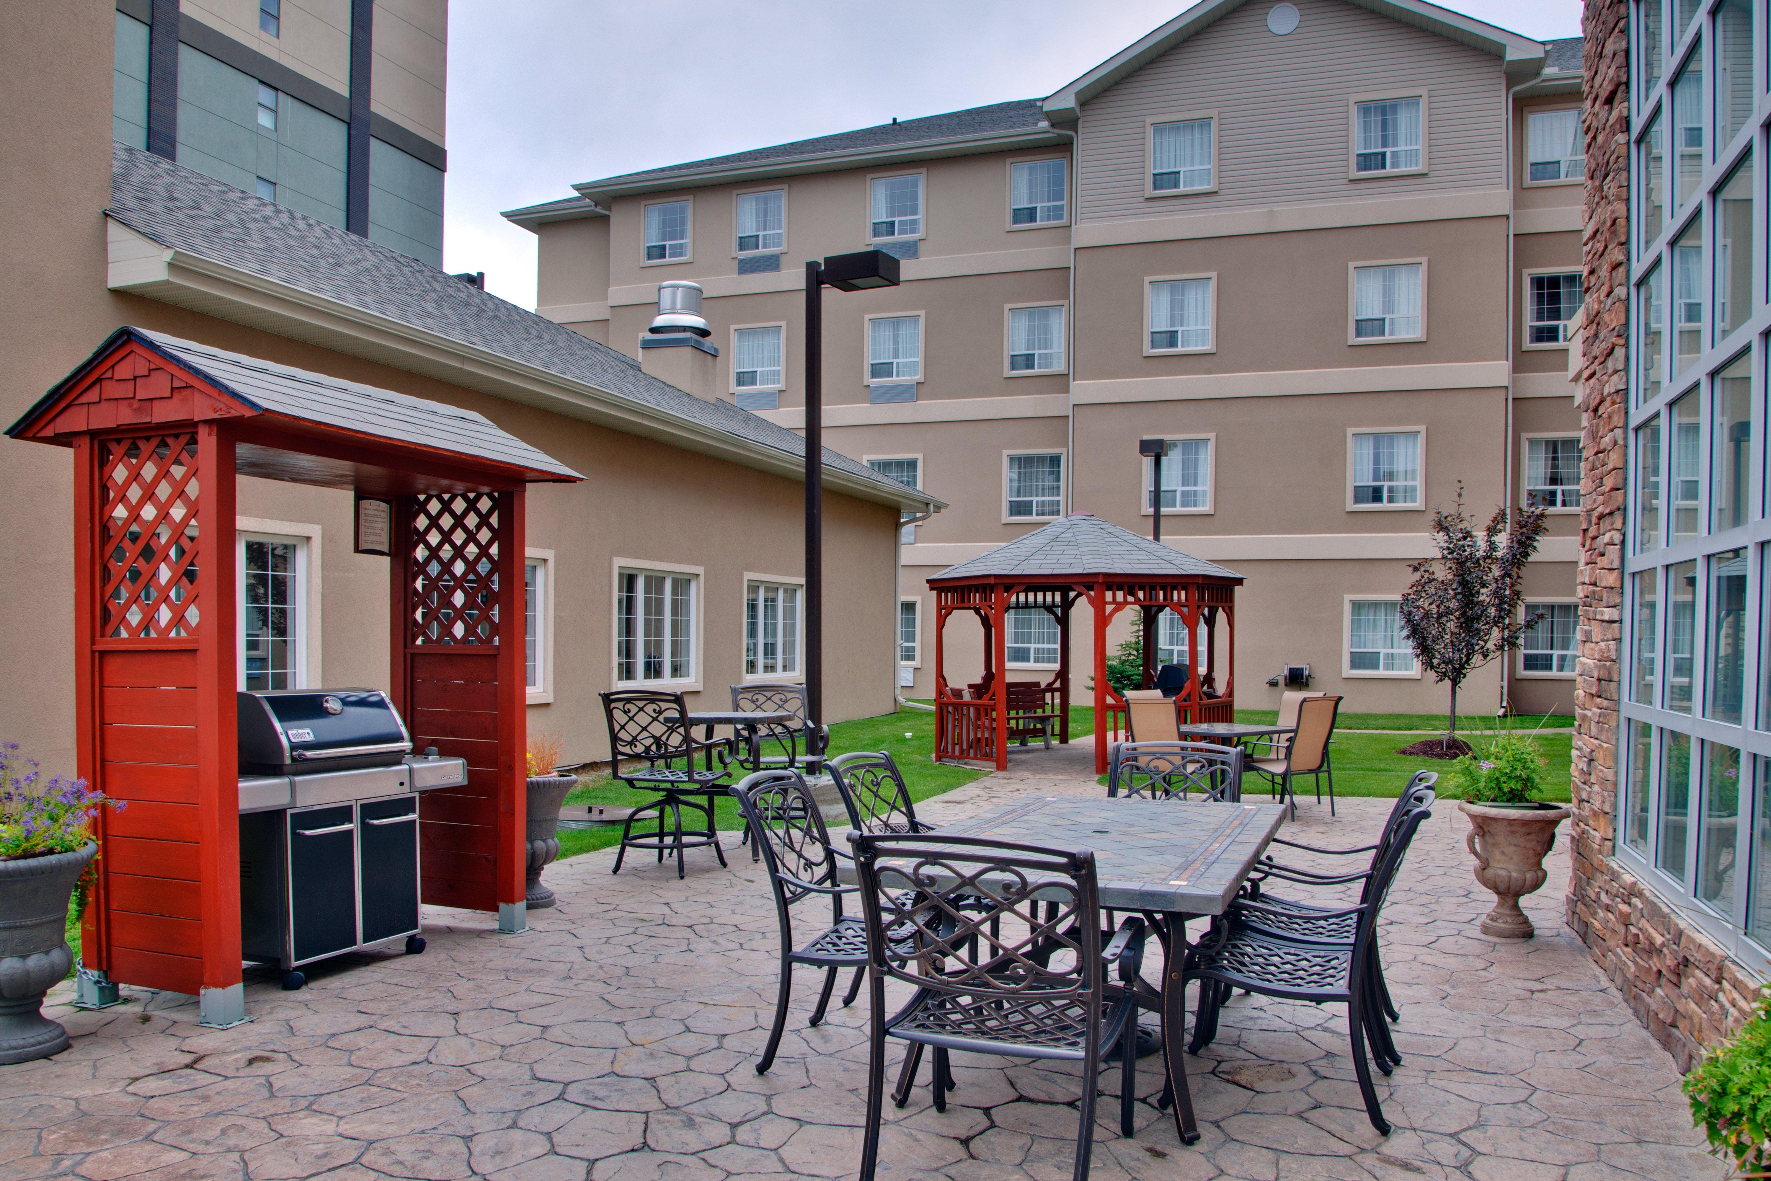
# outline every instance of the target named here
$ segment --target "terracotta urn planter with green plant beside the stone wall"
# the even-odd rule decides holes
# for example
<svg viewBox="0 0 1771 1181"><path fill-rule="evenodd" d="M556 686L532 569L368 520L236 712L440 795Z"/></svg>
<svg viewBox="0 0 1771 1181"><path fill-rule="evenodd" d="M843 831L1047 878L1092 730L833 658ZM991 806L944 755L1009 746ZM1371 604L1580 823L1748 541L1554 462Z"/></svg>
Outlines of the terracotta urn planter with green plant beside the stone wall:
<svg viewBox="0 0 1771 1181"><path fill-rule="evenodd" d="M1495 908L1482 933L1495 938L1530 938L1537 931L1520 910L1520 896L1544 884L1544 857L1555 845L1555 827L1573 814L1567 804L1546 804L1544 756L1532 735L1496 735L1479 754L1465 754L1450 770L1458 811L1470 818L1475 880L1495 892Z"/></svg>

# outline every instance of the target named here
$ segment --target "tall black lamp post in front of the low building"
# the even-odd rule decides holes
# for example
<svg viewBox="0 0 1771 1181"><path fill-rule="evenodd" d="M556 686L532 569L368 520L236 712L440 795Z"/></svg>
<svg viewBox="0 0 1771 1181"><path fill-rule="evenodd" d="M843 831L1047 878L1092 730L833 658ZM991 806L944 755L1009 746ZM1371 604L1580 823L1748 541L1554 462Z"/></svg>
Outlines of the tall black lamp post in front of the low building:
<svg viewBox="0 0 1771 1181"><path fill-rule="evenodd" d="M884 250L806 260L806 726L824 719L824 287L898 285ZM822 754L822 751L820 751Z"/></svg>

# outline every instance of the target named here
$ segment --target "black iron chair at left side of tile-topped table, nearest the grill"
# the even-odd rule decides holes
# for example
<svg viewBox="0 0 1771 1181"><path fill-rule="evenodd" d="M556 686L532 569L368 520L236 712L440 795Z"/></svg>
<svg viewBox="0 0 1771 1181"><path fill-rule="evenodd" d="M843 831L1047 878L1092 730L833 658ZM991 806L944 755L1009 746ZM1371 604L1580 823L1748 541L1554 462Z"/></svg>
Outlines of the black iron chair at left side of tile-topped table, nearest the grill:
<svg viewBox="0 0 1771 1181"><path fill-rule="evenodd" d="M843 896L854 894L857 887L836 882L836 859L845 853L831 846L831 834L824 827L818 800L813 799L806 779L793 768L760 770L733 784L731 795L739 800L746 827L756 834L756 848L767 862L769 889L781 924L781 986L776 993L769 1045L756 1062L756 1073L762 1075L774 1064L776 1050L781 1048L786 1006L793 992L793 965L825 969L824 990L809 1022L818 1025L831 1004L836 976L845 967L855 969L855 979L843 997L843 1006L855 1002L868 961L868 938L861 917L843 914ZM793 907L815 896L831 899L831 926L800 944L793 937Z"/></svg>

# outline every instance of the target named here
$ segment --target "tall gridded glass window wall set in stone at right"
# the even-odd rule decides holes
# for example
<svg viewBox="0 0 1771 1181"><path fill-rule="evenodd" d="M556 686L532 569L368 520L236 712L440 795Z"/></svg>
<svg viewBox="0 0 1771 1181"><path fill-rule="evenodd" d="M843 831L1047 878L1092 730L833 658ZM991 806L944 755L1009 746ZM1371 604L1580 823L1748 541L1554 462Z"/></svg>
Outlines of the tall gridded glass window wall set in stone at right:
<svg viewBox="0 0 1771 1181"><path fill-rule="evenodd" d="M1771 969L1767 0L1635 0L1615 855Z"/></svg>

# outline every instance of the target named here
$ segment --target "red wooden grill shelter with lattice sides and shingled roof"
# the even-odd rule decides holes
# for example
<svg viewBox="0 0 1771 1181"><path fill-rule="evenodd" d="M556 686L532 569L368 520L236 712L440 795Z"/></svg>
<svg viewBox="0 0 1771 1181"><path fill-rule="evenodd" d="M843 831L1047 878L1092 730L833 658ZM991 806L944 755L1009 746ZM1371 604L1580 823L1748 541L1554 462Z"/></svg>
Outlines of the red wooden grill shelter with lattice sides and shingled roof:
<svg viewBox="0 0 1771 1181"><path fill-rule="evenodd" d="M579 480L471 411L117 329L9 430L74 452L80 774L97 818L81 958L243 1020L236 476L391 499L391 696L469 783L420 797L425 901L522 926L522 496ZM515 621L515 636L501 629ZM499 643L514 639L515 643Z"/></svg>

